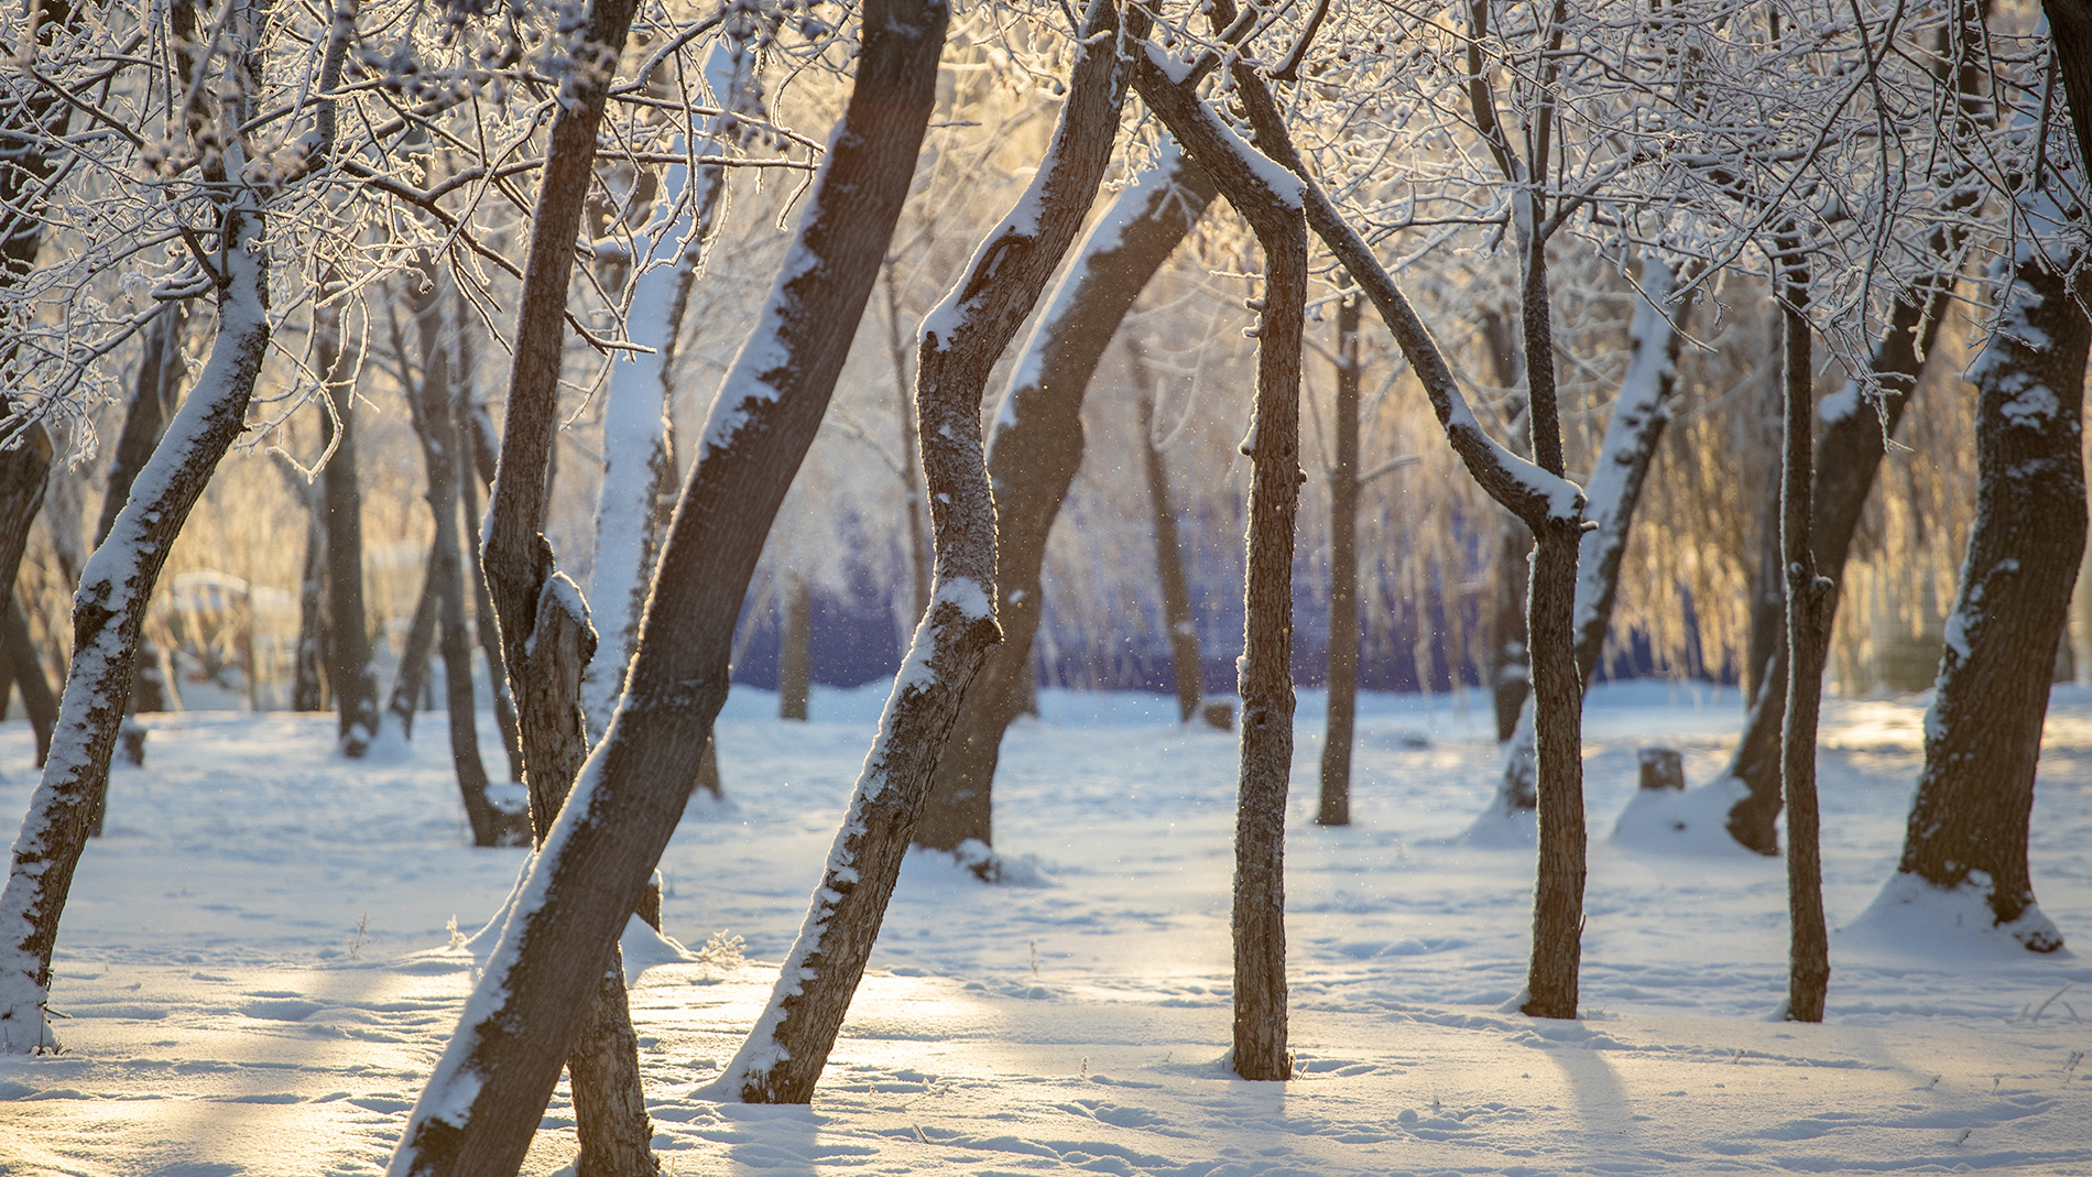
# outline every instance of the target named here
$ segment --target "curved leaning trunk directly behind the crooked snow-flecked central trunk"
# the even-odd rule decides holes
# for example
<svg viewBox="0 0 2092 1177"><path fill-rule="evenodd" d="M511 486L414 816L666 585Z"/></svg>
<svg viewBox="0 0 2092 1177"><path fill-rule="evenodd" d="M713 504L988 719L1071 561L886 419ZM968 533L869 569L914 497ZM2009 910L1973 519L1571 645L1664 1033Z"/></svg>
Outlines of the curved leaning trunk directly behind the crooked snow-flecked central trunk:
<svg viewBox="0 0 2092 1177"><path fill-rule="evenodd" d="M1082 397L1125 311L1190 226L1213 203L1213 182L1174 140L1155 167L1111 201L1075 251L1019 353L990 424L987 479L996 489L996 619L1002 644L987 654L937 761L916 845L956 851L994 845L994 780L1002 732L1017 717L1040 627L1046 537L1082 466ZM992 874L994 859L981 868Z"/></svg>

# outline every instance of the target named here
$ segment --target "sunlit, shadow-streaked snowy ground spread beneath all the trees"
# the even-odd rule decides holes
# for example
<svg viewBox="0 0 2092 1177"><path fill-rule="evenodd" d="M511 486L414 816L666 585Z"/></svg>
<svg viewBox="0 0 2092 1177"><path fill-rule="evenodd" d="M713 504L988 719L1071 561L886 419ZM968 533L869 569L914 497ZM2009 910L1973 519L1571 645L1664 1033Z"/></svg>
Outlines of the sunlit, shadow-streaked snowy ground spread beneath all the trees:
<svg viewBox="0 0 2092 1177"><path fill-rule="evenodd" d="M1732 694L1651 684L1588 709L1579 1022L1504 1010L1525 978L1531 851L1466 836L1492 784L1485 711L1368 698L1358 824L1320 830L1310 694L1287 847L1301 1077L1230 1079L1234 742L1180 730L1174 700L1048 692L996 784L998 847L1036 878L910 861L814 1106L695 1100L768 995L764 962L799 924L879 702L818 694L805 725L768 719L761 692L728 705L730 801L684 817L665 922L692 947L730 928L747 962L659 964L632 995L669 1173L2092 1175L2082 955L1966 926L1841 930L1830 1022L1766 1020L1787 976L1782 863L1609 838L1638 746L1682 748L1703 782L1736 730ZM1826 707L1835 926L1895 861L1920 702ZM521 863L464 845L441 717L420 721L412 751L349 765L326 753L331 717L153 719L153 763L117 771L61 928L67 1052L0 1058L0 1173L383 1167L471 983L452 926L473 932ZM13 830L33 786L19 723L0 728L0 774ZM2088 847L2092 692L2065 688L2033 878L2079 947ZM525 1171L571 1154L561 1093Z"/></svg>

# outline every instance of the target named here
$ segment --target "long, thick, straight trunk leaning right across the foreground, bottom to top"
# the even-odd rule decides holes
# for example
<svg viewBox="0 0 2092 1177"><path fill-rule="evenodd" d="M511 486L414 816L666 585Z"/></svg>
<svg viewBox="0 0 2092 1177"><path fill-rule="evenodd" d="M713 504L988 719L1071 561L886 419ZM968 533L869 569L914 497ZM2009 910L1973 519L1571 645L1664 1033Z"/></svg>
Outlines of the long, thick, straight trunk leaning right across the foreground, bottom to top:
<svg viewBox="0 0 2092 1177"><path fill-rule="evenodd" d="M504 924L473 1014L414 1106L391 1160L395 1175L517 1171L582 1037L626 916L688 801L690 765L726 702L749 577L820 429L935 105L946 4L866 0L862 8L858 82L843 125L766 303L761 334L741 351L713 401L655 573L623 707L531 863L527 899ZM533 412L548 445L552 408ZM504 541L531 548L538 537L523 531Z"/></svg>

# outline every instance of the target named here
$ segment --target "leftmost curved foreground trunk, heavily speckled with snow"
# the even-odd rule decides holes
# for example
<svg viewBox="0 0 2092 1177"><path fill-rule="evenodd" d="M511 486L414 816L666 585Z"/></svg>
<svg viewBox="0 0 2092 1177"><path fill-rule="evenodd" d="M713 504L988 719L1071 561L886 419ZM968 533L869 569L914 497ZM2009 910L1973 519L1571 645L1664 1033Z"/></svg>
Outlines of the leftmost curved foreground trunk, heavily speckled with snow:
<svg viewBox="0 0 2092 1177"><path fill-rule="evenodd" d="M228 155L228 169L236 174L236 142ZM211 357L140 472L151 493L132 493L123 504L73 596L73 667L59 732L0 893L0 1054L54 1045L44 1022L50 951L86 847L94 782L107 778L115 753L146 602L182 523L245 426L247 399L268 351L268 261L259 253L255 192L236 190L220 232L226 272Z"/></svg>

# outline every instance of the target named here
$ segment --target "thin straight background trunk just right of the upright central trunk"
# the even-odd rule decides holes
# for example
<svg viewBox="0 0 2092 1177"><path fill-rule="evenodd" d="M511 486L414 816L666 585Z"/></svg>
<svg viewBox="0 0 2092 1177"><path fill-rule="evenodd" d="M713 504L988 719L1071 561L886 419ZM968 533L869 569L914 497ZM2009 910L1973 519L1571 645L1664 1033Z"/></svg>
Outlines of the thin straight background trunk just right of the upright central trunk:
<svg viewBox="0 0 2092 1177"><path fill-rule="evenodd" d="M1358 309L1337 303L1337 462L1328 470L1328 723L1316 826L1351 824L1351 732L1358 723Z"/></svg>

